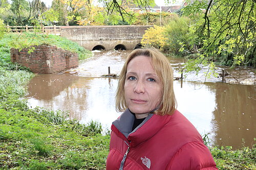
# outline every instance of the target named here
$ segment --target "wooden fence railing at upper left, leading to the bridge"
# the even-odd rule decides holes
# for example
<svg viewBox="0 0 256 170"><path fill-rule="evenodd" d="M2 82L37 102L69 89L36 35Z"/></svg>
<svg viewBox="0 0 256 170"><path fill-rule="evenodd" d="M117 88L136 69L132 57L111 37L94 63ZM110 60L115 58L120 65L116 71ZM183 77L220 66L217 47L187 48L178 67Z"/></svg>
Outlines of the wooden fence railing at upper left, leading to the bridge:
<svg viewBox="0 0 256 170"><path fill-rule="evenodd" d="M35 32L60 35L60 26L6 26L7 32Z"/></svg>

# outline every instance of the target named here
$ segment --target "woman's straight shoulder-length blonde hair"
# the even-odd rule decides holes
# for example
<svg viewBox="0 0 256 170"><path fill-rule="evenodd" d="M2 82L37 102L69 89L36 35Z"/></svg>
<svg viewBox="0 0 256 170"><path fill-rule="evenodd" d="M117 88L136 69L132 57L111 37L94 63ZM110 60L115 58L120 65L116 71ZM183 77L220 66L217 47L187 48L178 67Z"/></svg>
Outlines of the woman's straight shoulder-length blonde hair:
<svg viewBox="0 0 256 170"><path fill-rule="evenodd" d="M124 99L124 83L126 78L127 65L137 56L150 57L152 67L162 83L162 101L160 107L154 111L156 114L173 114L176 110L176 99L173 89L173 69L167 58L156 48L136 49L126 58L123 68L119 75L118 87L116 92L116 110L121 112L127 109Z"/></svg>

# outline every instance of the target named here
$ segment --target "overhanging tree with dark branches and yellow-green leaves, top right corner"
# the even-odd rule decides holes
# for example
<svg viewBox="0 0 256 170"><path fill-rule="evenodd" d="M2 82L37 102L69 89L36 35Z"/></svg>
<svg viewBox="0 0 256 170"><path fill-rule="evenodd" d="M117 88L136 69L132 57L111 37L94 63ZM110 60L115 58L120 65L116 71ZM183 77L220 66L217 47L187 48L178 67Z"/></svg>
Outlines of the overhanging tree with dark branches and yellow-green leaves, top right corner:
<svg viewBox="0 0 256 170"><path fill-rule="evenodd" d="M183 8L183 15L190 18L203 13L193 30L201 33L198 62L256 67L255 11L255 0L194 1Z"/></svg>

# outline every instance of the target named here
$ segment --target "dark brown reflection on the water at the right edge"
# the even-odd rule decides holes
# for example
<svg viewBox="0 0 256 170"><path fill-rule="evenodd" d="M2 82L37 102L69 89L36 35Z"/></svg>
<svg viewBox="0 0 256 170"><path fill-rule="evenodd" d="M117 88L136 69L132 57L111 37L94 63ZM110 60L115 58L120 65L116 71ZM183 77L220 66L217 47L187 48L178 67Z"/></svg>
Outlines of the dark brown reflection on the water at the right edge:
<svg viewBox="0 0 256 170"><path fill-rule="evenodd" d="M213 112L215 141L220 145L252 146L256 137L256 86L216 83L216 108Z"/></svg>

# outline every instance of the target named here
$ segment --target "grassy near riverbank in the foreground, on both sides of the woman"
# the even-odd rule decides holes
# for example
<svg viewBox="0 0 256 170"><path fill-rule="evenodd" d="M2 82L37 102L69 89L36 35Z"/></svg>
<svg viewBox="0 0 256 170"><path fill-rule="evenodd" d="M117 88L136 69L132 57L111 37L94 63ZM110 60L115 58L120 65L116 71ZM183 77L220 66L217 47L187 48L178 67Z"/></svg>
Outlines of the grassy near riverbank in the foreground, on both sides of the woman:
<svg viewBox="0 0 256 170"><path fill-rule="evenodd" d="M27 71L0 69L0 169L105 169L109 134L21 100ZM255 169L255 148L210 148L219 169Z"/></svg>

